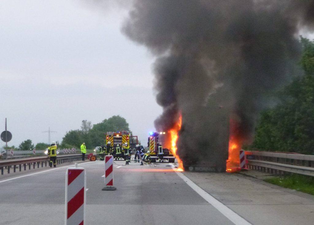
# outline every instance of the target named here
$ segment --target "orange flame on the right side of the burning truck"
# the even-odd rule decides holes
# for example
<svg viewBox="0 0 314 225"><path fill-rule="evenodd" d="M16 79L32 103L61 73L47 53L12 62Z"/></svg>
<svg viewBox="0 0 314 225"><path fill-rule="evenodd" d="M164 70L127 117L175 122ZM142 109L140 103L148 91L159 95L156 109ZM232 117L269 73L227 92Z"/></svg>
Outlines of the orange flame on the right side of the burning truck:
<svg viewBox="0 0 314 225"><path fill-rule="evenodd" d="M230 120L230 138L229 138L229 156L226 162L226 171L235 172L240 167L240 150L242 148L242 139L237 134L236 121Z"/></svg>

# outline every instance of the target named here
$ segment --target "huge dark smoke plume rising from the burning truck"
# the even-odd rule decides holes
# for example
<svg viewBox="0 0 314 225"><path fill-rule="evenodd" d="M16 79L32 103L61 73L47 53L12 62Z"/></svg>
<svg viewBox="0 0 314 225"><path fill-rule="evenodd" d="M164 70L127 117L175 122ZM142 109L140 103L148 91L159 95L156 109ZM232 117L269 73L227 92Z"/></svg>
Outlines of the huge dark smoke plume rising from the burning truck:
<svg viewBox="0 0 314 225"><path fill-rule="evenodd" d="M185 164L219 157L232 116L252 137L267 93L295 74L298 31L313 29L314 1L136 0L123 26L157 56L157 130L182 114L178 152ZM227 131L226 131L227 130Z"/></svg>

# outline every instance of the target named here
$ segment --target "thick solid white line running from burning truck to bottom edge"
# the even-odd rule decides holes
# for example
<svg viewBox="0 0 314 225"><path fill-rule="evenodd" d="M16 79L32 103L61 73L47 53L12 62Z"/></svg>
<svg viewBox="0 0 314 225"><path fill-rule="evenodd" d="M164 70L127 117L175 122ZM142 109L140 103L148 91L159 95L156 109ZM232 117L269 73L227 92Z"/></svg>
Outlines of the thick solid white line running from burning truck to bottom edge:
<svg viewBox="0 0 314 225"><path fill-rule="evenodd" d="M173 164L172 169L176 171L176 168ZM194 191L196 191L203 199L208 201L209 204L214 206L219 212L221 212L225 217L227 217L231 222L233 222L236 225L252 225L251 223L247 222L244 218L236 214L236 212L233 212L230 208L226 207L224 204L222 204L220 201L215 199L213 196L208 194L206 191L204 191L202 188L197 186L193 181L191 181L189 178L187 178L184 174L181 172L176 171L176 174L182 178L185 183L190 186Z"/></svg>

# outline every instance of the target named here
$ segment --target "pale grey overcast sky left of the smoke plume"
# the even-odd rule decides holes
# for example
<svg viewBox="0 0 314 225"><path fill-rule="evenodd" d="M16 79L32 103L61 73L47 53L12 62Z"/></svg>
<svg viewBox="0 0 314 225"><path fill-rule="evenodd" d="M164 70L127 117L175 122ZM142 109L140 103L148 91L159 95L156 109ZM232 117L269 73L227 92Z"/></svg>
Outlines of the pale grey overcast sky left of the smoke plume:
<svg viewBox="0 0 314 225"><path fill-rule="evenodd" d="M83 119L118 114L142 143L154 130L162 111L154 58L121 33L127 10L91 2L1 1L0 128L8 118L9 145L48 142L48 127L62 141Z"/></svg>

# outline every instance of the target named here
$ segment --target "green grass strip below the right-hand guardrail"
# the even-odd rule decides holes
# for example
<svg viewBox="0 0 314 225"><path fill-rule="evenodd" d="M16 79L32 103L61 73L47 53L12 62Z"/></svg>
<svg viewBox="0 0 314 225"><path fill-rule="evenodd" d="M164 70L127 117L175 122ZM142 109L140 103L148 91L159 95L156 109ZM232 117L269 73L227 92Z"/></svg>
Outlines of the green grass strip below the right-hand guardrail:
<svg viewBox="0 0 314 225"><path fill-rule="evenodd" d="M314 177L311 176L293 174L283 177L272 177L264 181L314 195Z"/></svg>

